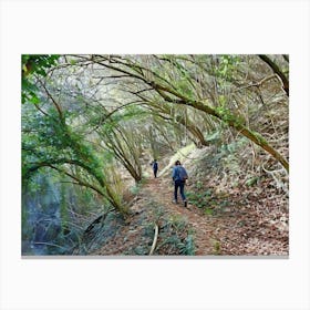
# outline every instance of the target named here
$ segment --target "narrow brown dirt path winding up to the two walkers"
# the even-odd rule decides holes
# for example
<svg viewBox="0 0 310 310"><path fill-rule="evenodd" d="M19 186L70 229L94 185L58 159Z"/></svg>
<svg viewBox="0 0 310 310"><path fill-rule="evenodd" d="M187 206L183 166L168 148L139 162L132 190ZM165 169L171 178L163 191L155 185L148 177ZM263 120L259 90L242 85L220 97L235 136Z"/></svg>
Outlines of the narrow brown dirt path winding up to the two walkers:
<svg viewBox="0 0 310 310"><path fill-rule="evenodd" d="M215 220L202 214L196 206L188 202L185 208L183 204L173 203L174 185L172 180L163 177L149 178L143 187L144 195L164 207L165 211L184 217L194 229L195 255L213 255L215 251L215 240L213 231L216 227ZM186 187L185 187L186 194Z"/></svg>

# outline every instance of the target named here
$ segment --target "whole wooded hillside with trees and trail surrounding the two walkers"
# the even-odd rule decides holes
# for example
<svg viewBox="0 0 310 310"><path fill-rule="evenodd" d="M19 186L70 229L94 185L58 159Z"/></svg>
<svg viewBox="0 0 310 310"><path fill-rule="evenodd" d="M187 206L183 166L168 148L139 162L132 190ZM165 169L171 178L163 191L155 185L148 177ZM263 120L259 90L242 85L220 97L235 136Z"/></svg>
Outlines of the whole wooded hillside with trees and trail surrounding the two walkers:
<svg viewBox="0 0 310 310"><path fill-rule="evenodd" d="M22 55L21 74L22 255L289 255L288 55Z"/></svg>

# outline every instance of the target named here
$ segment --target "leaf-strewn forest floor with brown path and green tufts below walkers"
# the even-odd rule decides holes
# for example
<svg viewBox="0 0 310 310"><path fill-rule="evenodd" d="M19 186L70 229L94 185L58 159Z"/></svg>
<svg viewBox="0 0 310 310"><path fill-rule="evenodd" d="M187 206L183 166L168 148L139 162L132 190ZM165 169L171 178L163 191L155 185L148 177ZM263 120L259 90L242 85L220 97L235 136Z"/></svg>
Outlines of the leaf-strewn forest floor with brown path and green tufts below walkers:
<svg viewBox="0 0 310 310"><path fill-rule="evenodd" d="M211 189L213 179L209 182ZM157 225L155 256L287 256L288 209L279 207L283 205L282 195L277 196L269 185L269 182L261 184L259 190L245 187L226 195L213 193L203 208L188 195L185 208L172 202L170 178L147 178L126 225L120 224L115 234L92 255L148 255ZM193 189L190 182L186 189L188 193ZM273 190L271 200L270 190Z"/></svg>

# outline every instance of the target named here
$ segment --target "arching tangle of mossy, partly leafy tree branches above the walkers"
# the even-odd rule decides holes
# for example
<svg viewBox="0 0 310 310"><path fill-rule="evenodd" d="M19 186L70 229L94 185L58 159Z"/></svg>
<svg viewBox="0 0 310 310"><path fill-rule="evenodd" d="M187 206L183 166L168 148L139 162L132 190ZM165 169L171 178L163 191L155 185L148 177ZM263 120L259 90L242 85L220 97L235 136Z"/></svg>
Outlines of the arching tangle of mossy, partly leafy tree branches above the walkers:
<svg viewBox="0 0 310 310"><path fill-rule="evenodd" d="M62 240L74 213L126 218L128 183L190 143L244 137L254 166L289 172L288 55L22 55L21 76L23 199L44 205L38 187L54 193Z"/></svg>

